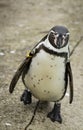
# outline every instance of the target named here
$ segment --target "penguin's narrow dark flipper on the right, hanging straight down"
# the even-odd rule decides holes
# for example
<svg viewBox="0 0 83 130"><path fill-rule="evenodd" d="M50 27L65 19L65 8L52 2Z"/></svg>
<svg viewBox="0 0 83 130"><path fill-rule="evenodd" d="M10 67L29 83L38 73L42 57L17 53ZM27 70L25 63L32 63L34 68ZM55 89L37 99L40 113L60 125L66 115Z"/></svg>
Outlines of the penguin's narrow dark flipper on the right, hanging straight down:
<svg viewBox="0 0 83 130"><path fill-rule="evenodd" d="M69 76L69 85L70 85L70 100L69 103L71 104L73 101L73 75L71 70L70 62L67 63L67 72Z"/></svg>

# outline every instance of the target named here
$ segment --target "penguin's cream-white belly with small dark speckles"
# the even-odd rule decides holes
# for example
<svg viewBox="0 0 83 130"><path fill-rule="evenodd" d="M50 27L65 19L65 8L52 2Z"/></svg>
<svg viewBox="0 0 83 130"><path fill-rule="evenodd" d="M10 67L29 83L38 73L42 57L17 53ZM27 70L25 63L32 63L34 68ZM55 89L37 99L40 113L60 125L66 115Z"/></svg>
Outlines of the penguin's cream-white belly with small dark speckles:
<svg viewBox="0 0 83 130"><path fill-rule="evenodd" d="M65 92L65 57L40 50L31 61L25 84L41 101L58 101Z"/></svg>

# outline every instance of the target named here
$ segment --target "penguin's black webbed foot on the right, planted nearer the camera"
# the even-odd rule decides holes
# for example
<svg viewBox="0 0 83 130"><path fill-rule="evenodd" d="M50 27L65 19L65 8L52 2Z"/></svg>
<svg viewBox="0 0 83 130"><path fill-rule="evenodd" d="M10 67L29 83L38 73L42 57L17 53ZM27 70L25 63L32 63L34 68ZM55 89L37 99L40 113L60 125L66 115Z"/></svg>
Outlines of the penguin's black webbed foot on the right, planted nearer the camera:
<svg viewBox="0 0 83 130"><path fill-rule="evenodd" d="M52 122L57 121L60 124L62 123L62 118L60 115L61 104L54 104L54 108L51 112L48 113L47 117L51 119Z"/></svg>

